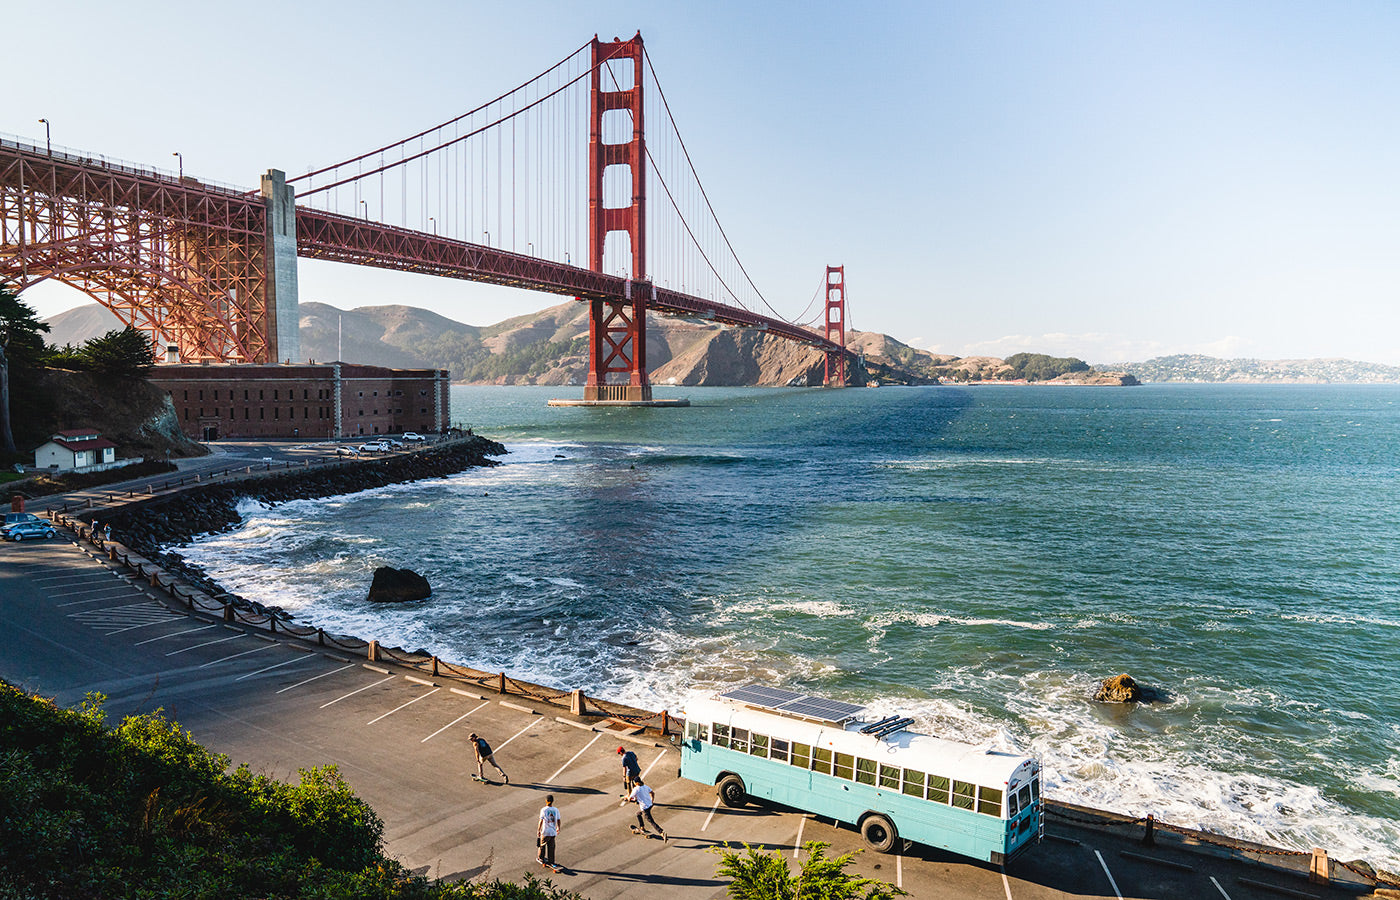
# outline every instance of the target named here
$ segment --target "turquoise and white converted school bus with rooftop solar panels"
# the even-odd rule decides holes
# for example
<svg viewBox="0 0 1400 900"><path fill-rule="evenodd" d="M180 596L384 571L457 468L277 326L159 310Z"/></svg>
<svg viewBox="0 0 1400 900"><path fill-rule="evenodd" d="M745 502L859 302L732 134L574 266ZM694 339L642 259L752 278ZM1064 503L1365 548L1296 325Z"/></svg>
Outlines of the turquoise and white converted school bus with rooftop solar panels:
<svg viewBox="0 0 1400 900"><path fill-rule="evenodd" d="M881 852L902 840L1001 865L1040 841L1040 763L862 719L850 703L748 684L686 710L680 774L720 802L771 801L860 829Z"/></svg>

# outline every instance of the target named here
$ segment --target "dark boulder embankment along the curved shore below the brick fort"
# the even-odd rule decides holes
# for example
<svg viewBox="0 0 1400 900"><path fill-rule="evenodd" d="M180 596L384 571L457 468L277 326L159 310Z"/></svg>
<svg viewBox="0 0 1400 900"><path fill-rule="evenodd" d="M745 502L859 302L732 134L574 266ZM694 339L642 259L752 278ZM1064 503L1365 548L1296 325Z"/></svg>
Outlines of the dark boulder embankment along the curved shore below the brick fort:
<svg viewBox="0 0 1400 900"><path fill-rule="evenodd" d="M412 453L189 487L169 497L127 504L104 515L102 523L111 525L113 535L125 546L160 561L167 571L179 572L185 581L210 596L231 599L245 610L291 619L276 606L263 606L230 593L197 565L186 563L167 547L190 543L199 535L237 528L242 523L238 501L244 498L279 504L353 494L388 484L440 479L466 469L497 466L500 463L491 458L504 456L505 452L501 444L472 435Z"/></svg>

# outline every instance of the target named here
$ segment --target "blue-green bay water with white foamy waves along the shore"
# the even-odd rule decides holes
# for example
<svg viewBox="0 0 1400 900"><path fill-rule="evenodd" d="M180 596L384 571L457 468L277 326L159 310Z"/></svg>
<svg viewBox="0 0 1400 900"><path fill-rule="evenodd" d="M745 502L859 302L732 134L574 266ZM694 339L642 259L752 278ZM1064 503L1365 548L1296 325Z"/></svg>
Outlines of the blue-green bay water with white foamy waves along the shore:
<svg viewBox="0 0 1400 900"><path fill-rule="evenodd" d="M329 630L648 708L748 680L1050 796L1400 869L1400 386L454 388L504 465L182 553ZM364 602L377 565L434 595ZM1152 705L1089 700L1128 672Z"/></svg>

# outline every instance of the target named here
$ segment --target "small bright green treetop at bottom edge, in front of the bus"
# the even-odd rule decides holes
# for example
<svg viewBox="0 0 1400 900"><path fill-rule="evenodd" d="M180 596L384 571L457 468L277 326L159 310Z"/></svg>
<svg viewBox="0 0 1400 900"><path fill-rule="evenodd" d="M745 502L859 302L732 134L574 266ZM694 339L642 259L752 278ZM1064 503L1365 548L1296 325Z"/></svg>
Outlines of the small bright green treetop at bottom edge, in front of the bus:
<svg viewBox="0 0 1400 900"><path fill-rule="evenodd" d="M861 878L846 872L855 852L827 858L823 841L802 844L802 868L792 876L781 852L770 854L745 844L743 854L728 847L713 847L720 854L715 875L734 879L729 897L734 900L890 900L909 896L888 882Z"/></svg>

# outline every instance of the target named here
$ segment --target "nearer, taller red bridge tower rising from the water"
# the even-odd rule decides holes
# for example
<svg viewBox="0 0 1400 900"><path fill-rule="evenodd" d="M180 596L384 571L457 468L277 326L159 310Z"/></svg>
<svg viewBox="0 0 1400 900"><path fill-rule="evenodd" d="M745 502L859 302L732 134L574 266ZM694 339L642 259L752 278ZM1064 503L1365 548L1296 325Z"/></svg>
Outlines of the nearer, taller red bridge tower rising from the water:
<svg viewBox="0 0 1400 900"><path fill-rule="evenodd" d="M631 85L612 64L631 63ZM594 73L588 129L588 266L603 270L608 235L626 235L631 251L627 297L591 300L588 308L588 381L584 402L650 402L647 378L647 146L641 119L641 32L629 41L599 41L594 36ZM613 76L617 74L615 81ZM613 111L631 113L631 140L603 141L603 118ZM603 174L627 167L631 174L631 203L603 204ZM626 377L613 384L609 375Z"/></svg>

